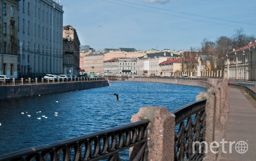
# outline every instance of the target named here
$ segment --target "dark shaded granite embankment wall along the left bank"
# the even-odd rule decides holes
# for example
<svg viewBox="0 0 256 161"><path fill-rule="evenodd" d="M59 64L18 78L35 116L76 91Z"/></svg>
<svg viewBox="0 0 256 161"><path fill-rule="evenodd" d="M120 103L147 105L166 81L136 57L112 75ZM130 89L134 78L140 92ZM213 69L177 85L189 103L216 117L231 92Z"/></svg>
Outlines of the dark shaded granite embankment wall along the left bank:
<svg viewBox="0 0 256 161"><path fill-rule="evenodd" d="M69 92L103 86L109 86L107 80L0 86L0 100L8 98L28 97L33 95L46 95L52 93Z"/></svg>

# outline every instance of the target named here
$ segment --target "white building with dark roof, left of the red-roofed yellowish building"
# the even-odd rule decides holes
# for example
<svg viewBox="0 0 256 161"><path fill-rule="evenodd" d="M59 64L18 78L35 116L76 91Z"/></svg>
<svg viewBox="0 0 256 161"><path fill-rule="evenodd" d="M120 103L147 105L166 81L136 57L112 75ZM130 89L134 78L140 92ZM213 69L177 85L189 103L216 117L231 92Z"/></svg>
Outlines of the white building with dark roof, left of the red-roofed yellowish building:
<svg viewBox="0 0 256 161"><path fill-rule="evenodd" d="M137 74L138 75L162 75L159 64L166 61L167 58L174 58L178 55L176 51L164 50L163 52L156 52L146 54L137 58Z"/></svg>

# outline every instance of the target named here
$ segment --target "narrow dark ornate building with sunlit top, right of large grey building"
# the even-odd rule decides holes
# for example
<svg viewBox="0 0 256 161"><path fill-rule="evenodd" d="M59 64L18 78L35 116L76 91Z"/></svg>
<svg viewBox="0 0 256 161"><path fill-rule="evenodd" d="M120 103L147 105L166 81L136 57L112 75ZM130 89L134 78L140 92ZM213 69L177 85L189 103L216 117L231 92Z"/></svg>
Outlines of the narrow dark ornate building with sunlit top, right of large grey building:
<svg viewBox="0 0 256 161"><path fill-rule="evenodd" d="M80 41L71 25L63 27L63 73L79 76Z"/></svg>

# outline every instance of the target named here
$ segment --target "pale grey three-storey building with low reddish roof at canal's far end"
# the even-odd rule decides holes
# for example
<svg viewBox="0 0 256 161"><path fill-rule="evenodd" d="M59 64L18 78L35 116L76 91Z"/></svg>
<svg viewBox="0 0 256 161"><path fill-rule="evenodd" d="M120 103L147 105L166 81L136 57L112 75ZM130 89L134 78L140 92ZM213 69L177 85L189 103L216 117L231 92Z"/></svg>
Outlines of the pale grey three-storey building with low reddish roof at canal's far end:
<svg viewBox="0 0 256 161"><path fill-rule="evenodd" d="M104 61L104 75L108 74L136 74L135 58L113 58Z"/></svg>

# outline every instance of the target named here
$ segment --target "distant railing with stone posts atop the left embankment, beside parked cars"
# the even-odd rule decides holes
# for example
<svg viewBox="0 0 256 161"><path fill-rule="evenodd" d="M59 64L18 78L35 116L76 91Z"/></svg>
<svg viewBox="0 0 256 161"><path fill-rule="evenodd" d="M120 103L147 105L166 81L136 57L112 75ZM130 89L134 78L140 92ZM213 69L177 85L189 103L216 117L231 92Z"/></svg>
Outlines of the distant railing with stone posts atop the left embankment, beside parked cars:
<svg viewBox="0 0 256 161"><path fill-rule="evenodd" d="M55 78L55 79L1 79L0 86L24 85L24 84L42 84L42 83L66 83L66 82L84 82L84 81L105 81L107 77L100 78Z"/></svg>

